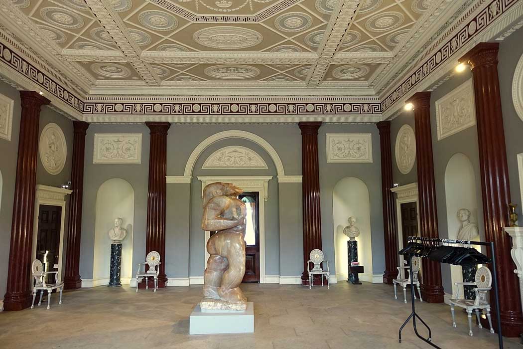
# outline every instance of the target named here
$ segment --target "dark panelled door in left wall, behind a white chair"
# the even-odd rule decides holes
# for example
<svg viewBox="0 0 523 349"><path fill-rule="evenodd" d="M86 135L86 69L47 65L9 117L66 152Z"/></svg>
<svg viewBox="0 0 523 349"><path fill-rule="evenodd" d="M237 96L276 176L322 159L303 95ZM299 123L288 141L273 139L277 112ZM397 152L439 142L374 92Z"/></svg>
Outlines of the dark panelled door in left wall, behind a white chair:
<svg viewBox="0 0 523 349"><path fill-rule="evenodd" d="M60 228L62 223L62 207L40 205L38 212L38 233L36 256L43 264L44 271L58 271L60 252ZM54 283L54 275L49 275L46 282Z"/></svg>

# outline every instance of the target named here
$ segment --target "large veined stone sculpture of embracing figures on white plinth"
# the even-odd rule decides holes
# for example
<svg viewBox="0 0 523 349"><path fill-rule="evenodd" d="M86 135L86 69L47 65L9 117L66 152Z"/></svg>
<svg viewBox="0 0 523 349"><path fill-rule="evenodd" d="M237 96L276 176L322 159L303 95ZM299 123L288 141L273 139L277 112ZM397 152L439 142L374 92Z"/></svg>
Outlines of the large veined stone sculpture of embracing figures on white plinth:
<svg viewBox="0 0 523 349"><path fill-rule="evenodd" d="M243 190L230 183L211 183L203 189L201 228L216 231L207 242L207 268L203 274L203 299L206 310L238 310L247 307L240 289L245 274L244 202L237 196Z"/></svg>

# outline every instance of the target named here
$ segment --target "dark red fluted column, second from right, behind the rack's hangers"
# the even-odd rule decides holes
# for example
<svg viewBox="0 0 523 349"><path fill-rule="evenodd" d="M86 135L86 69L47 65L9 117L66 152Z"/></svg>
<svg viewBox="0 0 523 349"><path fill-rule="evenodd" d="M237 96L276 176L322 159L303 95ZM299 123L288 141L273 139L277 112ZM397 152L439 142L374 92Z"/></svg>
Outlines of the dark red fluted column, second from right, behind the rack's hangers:
<svg viewBox="0 0 523 349"><path fill-rule="evenodd" d="M419 223L422 237L438 238L438 211L434 181L432 134L430 132L430 92L418 92L408 101L414 104L416 126L416 168L418 171ZM441 266L425 258L422 263L422 296L429 303L442 303Z"/></svg>

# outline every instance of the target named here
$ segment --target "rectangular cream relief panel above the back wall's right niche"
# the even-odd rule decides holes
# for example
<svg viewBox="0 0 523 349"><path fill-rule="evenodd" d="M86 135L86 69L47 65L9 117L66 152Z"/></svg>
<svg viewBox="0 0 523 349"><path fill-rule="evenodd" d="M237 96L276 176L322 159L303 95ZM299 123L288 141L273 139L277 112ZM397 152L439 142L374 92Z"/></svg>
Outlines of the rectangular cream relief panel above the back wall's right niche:
<svg viewBox="0 0 523 349"><path fill-rule="evenodd" d="M372 162L370 133L327 133L327 163Z"/></svg>

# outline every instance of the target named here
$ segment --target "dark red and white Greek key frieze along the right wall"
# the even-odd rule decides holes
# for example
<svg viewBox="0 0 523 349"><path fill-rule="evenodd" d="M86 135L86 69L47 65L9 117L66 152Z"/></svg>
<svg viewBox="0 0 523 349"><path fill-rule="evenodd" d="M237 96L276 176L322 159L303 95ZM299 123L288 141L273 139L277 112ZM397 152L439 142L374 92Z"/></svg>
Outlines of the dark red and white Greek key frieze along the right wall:
<svg viewBox="0 0 523 349"><path fill-rule="evenodd" d="M431 54L423 65L419 66L416 71L397 86L393 92L389 93L381 102L382 109L388 109L397 102L397 100L403 98L415 86L429 76L430 73L444 64L455 52L465 46L465 44L471 42L477 34L506 13L507 10L517 2L518 0L493 0L485 6L467 25L464 25L461 30L448 39L442 47Z"/></svg>

